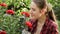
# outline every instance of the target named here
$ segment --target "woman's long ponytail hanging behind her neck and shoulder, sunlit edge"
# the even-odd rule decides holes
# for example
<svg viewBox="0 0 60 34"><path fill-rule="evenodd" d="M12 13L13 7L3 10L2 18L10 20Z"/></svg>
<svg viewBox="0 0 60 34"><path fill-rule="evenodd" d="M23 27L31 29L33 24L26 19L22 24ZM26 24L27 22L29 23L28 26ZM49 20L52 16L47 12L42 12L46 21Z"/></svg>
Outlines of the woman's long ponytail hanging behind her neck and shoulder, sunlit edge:
<svg viewBox="0 0 60 34"><path fill-rule="evenodd" d="M47 12L48 12L49 18L52 19L55 22L55 24L57 25L57 27L59 27L58 26L58 22L56 20L56 16L55 16L54 11L52 9L52 5L50 3L47 4ZM59 33L59 31L57 31L57 32Z"/></svg>

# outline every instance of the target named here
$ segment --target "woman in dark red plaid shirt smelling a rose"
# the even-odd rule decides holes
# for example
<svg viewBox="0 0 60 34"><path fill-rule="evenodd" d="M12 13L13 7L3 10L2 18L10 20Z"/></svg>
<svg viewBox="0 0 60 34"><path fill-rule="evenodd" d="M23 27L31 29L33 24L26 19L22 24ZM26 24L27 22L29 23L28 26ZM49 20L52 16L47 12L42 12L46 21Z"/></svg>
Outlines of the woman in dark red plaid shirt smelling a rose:
<svg viewBox="0 0 60 34"><path fill-rule="evenodd" d="M32 0L30 14L31 34L58 34L54 12L46 0Z"/></svg>

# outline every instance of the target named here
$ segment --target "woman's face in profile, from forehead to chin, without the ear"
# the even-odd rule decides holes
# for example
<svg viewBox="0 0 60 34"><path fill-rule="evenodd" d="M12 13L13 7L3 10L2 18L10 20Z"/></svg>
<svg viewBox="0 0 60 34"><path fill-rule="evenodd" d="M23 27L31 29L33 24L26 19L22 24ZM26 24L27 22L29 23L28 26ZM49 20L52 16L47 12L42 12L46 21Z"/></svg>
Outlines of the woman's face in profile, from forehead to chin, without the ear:
<svg viewBox="0 0 60 34"><path fill-rule="evenodd" d="M34 2L31 2L30 5L30 14L31 18L38 19L41 16L41 10L37 7Z"/></svg>

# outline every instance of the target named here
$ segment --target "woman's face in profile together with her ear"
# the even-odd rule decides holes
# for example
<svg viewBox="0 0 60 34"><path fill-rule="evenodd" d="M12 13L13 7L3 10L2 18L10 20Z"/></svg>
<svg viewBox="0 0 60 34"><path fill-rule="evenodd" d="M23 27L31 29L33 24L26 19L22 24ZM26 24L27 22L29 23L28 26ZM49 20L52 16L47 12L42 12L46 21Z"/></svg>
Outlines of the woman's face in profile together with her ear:
<svg viewBox="0 0 60 34"><path fill-rule="evenodd" d="M40 9L34 2L30 5L30 14L33 19L39 19L46 12L46 8Z"/></svg>

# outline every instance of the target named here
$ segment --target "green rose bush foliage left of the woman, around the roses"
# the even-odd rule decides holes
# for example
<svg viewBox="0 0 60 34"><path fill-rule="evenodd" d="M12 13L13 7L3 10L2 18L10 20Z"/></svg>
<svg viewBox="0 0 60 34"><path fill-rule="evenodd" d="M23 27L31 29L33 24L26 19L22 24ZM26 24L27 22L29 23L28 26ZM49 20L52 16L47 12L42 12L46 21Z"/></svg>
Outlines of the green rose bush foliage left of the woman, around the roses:
<svg viewBox="0 0 60 34"><path fill-rule="evenodd" d="M25 25L20 12L28 12L30 0L0 0L0 3L7 4L7 7L0 6L0 30L5 30L7 34L21 34ZM8 9L14 10L15 14L6 14Z"/></svg>

